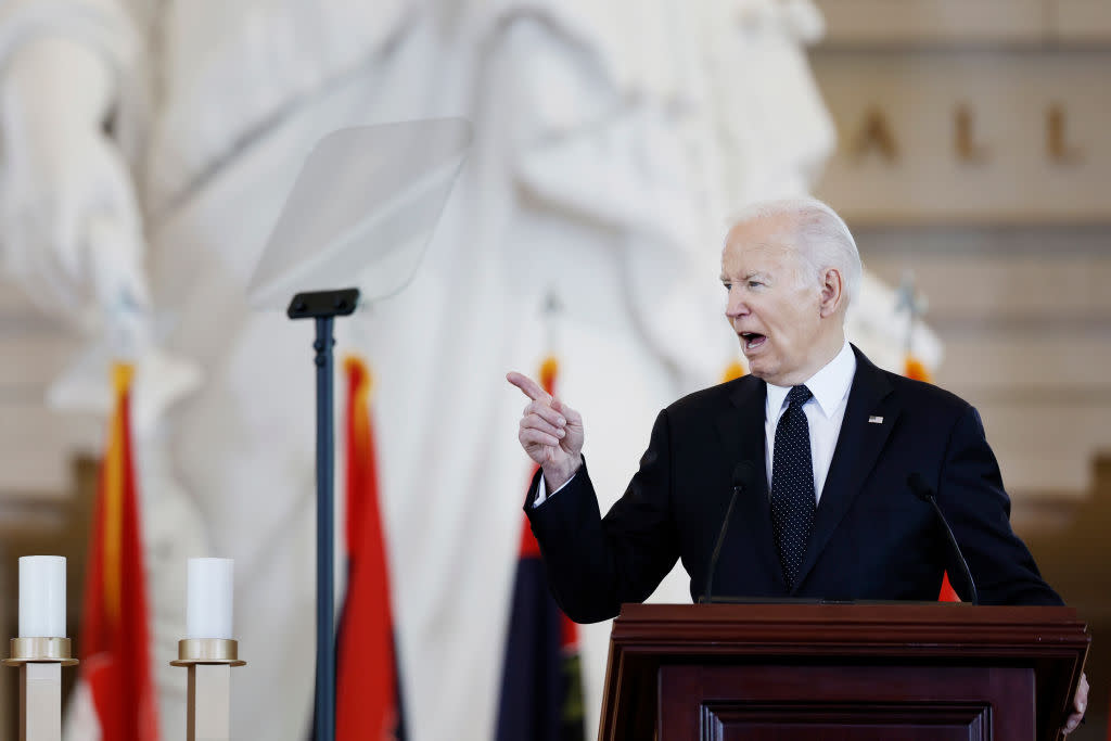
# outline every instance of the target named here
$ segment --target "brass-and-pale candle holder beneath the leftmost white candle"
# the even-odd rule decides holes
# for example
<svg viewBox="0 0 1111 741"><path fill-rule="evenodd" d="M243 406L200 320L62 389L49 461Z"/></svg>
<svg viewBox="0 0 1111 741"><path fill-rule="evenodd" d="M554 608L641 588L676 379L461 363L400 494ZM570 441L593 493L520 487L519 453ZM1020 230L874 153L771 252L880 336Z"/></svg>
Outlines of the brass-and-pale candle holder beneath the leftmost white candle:
<svg viewBox="0 0 1111 741"><path fill-rule="evenodd" d="M19 741L61 741L62 667L77 665L68 638L13 638L8 667L19 667Z"/></svg>

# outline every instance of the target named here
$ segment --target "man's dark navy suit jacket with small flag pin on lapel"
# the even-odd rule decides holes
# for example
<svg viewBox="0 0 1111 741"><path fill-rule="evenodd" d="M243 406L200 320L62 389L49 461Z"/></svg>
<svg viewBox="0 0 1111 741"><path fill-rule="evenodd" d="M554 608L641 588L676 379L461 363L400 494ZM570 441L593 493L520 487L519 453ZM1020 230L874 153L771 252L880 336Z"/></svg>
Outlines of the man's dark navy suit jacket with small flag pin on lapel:
<svg viewBox="0 0 1111 741"><path fill-rule="evenodd" d="M526 512L564 612L579 622L612 618L622 602L648 598L675 559L690 574L691 597L701 594L740 461L757 475L733 509L715 595L935 600L942 573L957 584L959 568L932 508L907 485L918 472L938 492L981 603L1061 604L1011 530L1010 499L975 409L853 350L857 373L793 590L771 531L767 384L743 377L660 412L640 470L604 518L585 465L537 508L533 479Z"/></svg>

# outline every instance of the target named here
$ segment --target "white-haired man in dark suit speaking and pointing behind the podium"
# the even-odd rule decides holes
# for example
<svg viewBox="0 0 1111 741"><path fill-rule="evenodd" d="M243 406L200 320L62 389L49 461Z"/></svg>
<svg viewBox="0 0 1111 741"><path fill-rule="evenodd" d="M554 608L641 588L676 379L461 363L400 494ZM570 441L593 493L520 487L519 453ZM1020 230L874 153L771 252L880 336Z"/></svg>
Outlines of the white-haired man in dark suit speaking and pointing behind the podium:
<svg viewBox="0 0 1111 741"><path fill-rule="evenodd" d="M931 505L937 492L980 600L1061 604L1012 532L1010 500L977 410L937 387L880 370L845 340L860 254L841 218L807 199L758 204L730 230L721 259L725 316L750 375L660 412L640 470L602 518L582 457L582 418L536 382L519 439L540 465L526 512L552 591L593 622L643 601L682 559L691 595L737 500L713 591L754 598L931 600L949 565ZM741 465L739 465L741 464ZM1088 683L1081 681L1080 722Z"/></svg>

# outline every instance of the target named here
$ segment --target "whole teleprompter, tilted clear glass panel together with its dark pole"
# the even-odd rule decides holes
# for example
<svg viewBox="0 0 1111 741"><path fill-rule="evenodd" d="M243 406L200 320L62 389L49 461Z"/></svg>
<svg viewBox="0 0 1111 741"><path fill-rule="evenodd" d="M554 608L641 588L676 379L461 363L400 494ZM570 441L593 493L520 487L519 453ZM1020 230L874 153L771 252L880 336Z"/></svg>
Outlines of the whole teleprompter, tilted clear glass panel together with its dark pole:
<svg viewBox="0 0 1111 741"><path fill-rule="evenodd" d="M248 287L252 308L284 309L290 319L317 323L314 741L336 739L334 320L360 302L397 294L413 279L470 142L471 127L462 119L326 134L306 158Z"/></svg>

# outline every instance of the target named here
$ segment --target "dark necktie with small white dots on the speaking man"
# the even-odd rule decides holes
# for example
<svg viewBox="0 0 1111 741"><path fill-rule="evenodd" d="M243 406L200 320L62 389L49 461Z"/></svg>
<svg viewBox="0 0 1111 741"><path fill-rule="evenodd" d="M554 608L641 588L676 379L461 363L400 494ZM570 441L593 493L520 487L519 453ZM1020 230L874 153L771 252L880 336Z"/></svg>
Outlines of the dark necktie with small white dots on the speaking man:
<svg viewBox="0 0 1111 741"><path fill-rule="evenodd" d="M787 411L775 427L771 467L771 527L788 590L794 589L802 557L814 529L814 467L810 459L810 425L802 404L813 394L797 385L787 394Z"/></svg>

